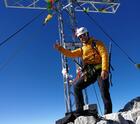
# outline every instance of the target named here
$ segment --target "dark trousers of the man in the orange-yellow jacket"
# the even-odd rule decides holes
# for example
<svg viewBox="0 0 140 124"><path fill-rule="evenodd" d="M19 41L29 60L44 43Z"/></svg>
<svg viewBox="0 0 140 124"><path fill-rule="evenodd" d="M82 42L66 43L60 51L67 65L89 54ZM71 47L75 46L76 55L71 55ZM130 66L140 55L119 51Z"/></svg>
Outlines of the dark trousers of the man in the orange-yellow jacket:
<svg viewBox="0 0 140 124"><path fill-rule="evenodd" d="M87 78L87 80L85 80L85 76L82 76L77 80L77 83L74 85L74 96L77 112L82 111L84 106L84 98L82 90L88 87L89 85L95 83L100 73L101 71L97 71L92 77ZM98 85L104 103L104 114L112 113L112 101L109 93L109 80L100 79L100 81L98 81Z"/></svg>

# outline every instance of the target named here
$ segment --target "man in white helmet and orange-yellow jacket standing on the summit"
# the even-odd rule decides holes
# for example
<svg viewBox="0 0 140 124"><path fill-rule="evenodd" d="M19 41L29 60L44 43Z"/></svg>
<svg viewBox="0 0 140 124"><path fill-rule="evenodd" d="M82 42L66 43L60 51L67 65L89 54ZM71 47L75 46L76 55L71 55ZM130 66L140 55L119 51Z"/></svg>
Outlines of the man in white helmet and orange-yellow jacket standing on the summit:
<svg viewBox="0 0 140 124"><path fill-rule="evenodd" d="M54 45L55 49L67 57L81 57L84 64L83 75L74 84L74 96L76 102L76 111L83 111L84 99L82 90L97 79L104 102L104 114L112 113L112 101L109 93L109 57L105 45L101 41L95 41L89 36L85 27L76 30L76 36L82 42L82 47L75 50L67 50L58 43Z"/></svg>

